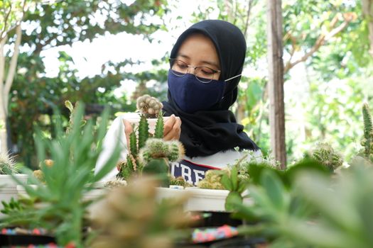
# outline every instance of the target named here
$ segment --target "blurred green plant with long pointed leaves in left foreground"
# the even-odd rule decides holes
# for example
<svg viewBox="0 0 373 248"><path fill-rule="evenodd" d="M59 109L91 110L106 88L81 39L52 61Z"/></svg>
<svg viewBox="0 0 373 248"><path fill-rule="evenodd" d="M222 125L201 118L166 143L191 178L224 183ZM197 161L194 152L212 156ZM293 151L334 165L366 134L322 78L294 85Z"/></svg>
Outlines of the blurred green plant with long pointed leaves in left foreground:
<svg viewBox="0 0 373 248"><path fill-rule="evenodd" d="M82 201L83 196L115 167L119 157L118 148L97 174L92 173L102 150L97 144L101 144L106 133L108 111L104 111L97 133L94 133L92 121L82 128L83 112L84 106L78 106L70 133L65 134L60 121L57 121L53 140L43 138L40 132L37 134L36 147L45 184L27 170L29 181L36 188L28 185L23 187L35 201L22 211L7 215L1 221L2 226L43 227L55 235L59 245L72 243L76 247L83 247L83 219L91 203ZM53 160L52 167L45 164L47 154ZM18 181L18 184L21 182Z"/></svg>

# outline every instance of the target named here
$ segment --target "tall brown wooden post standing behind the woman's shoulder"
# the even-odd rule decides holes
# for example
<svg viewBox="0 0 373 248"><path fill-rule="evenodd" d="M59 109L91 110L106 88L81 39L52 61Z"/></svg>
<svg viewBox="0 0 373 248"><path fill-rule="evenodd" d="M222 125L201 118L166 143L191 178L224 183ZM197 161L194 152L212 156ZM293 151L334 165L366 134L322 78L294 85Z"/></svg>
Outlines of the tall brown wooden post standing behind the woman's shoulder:
<svg viewBox="0 0 373 248"><path fill-rule="evenodd" d="M267 0L269 67L269 125L274 157L286 168L285 104L283 103L283 47L281 0Z"/></svg>

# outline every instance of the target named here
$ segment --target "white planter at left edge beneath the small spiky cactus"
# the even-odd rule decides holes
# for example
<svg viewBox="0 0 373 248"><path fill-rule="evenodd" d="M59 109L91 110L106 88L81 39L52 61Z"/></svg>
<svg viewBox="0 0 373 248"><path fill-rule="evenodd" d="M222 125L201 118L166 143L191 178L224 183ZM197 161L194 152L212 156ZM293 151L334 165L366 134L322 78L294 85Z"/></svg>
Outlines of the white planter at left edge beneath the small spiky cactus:
<svg viewBox="0 0 373 248"><path fill-rule="evenodd" d="M23 184L26 184L28 175L26 174L15 174L16 178ZM18 199L17 182L10 175L0 175L0 210L3 209L1 201L8 203L11 198ZM0 213L0 216L3 215Z"/></svg>

